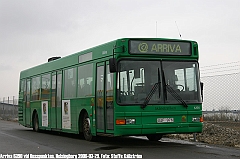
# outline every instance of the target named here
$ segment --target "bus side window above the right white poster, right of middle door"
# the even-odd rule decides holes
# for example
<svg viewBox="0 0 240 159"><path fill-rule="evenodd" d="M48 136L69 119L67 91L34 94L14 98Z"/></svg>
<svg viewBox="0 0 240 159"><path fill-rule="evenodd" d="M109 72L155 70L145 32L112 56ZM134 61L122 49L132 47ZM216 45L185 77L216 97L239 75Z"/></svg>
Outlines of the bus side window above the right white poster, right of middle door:
<svg viewBox="0 0 240 159"><path fill-rule="evenodd" d="M65 70L64 98L76 97L76 68Z"/></svg>

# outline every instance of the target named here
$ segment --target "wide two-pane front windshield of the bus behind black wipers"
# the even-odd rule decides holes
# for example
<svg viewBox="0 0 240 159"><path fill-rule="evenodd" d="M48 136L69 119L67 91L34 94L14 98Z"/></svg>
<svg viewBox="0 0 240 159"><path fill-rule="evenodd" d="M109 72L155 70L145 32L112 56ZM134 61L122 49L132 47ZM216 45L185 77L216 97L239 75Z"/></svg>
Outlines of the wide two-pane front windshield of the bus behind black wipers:
<svg viewBox="0 0 240 159"><path fill-rule="evenodd" d="M196 61L122 60L118 64L117 102L120 105L143 104L152 93L148 105L180 104L166 91L168 86L185 103L200 103L198 76Z"/></svg>

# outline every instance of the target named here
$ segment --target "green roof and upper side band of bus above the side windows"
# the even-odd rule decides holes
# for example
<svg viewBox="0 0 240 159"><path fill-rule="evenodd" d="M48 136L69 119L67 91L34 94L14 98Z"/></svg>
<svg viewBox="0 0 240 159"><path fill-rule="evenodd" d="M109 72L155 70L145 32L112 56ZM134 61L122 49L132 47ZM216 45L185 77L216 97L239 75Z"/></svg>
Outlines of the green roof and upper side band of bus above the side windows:
<svg viewBox="0 0 240 159"><path fill-rule="evenodd" d="M129 40L163 40L163 41L185 41L185 42L196 43L195 41L192 41L192 40L168 39L168 38L121 38L121 39L113 40L105 44L80 51L80 52L70 54L63 58L54 59L53 57L52 61L50 62L46 62L44 64L40 64L35 67L21 71L20 79L35 76L42 73L51 72L53 70L60 70L62 68L78 65L80 63L81 58L83 58L82 63L85 63L87 61L84 61L84 58L88 58L88 57L87 56L84 57L84 55L88 55L88 54L89 56L91 56L91 60L95 60L103 57L106 57L106 58L110 57L113 55L114 47L122 46L123 44L128 45Z"/></svg>

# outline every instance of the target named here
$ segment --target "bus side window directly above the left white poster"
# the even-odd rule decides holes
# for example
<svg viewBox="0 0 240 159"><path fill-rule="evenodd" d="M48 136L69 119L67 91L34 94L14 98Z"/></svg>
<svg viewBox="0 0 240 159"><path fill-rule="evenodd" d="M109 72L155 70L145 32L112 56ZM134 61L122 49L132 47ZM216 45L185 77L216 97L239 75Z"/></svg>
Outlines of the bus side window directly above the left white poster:
<svg viewBox="0 0 240 159"><path fill-rule="evenodd" d="M50 74L42 76L41 99L50 98Z"/></svg>

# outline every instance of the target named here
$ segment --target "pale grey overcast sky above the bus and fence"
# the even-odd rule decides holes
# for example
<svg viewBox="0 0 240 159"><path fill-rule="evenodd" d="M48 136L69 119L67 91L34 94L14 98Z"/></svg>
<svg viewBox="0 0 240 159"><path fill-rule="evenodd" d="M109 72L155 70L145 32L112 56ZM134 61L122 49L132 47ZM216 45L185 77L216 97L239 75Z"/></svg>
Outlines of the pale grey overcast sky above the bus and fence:
<svg viewBox="0 0 240 159"><path fill-rule="evenodd" d="M199 43L200 66L240 61L240 0L0 0L0 100L49 57L178 29Z"/></svg>

